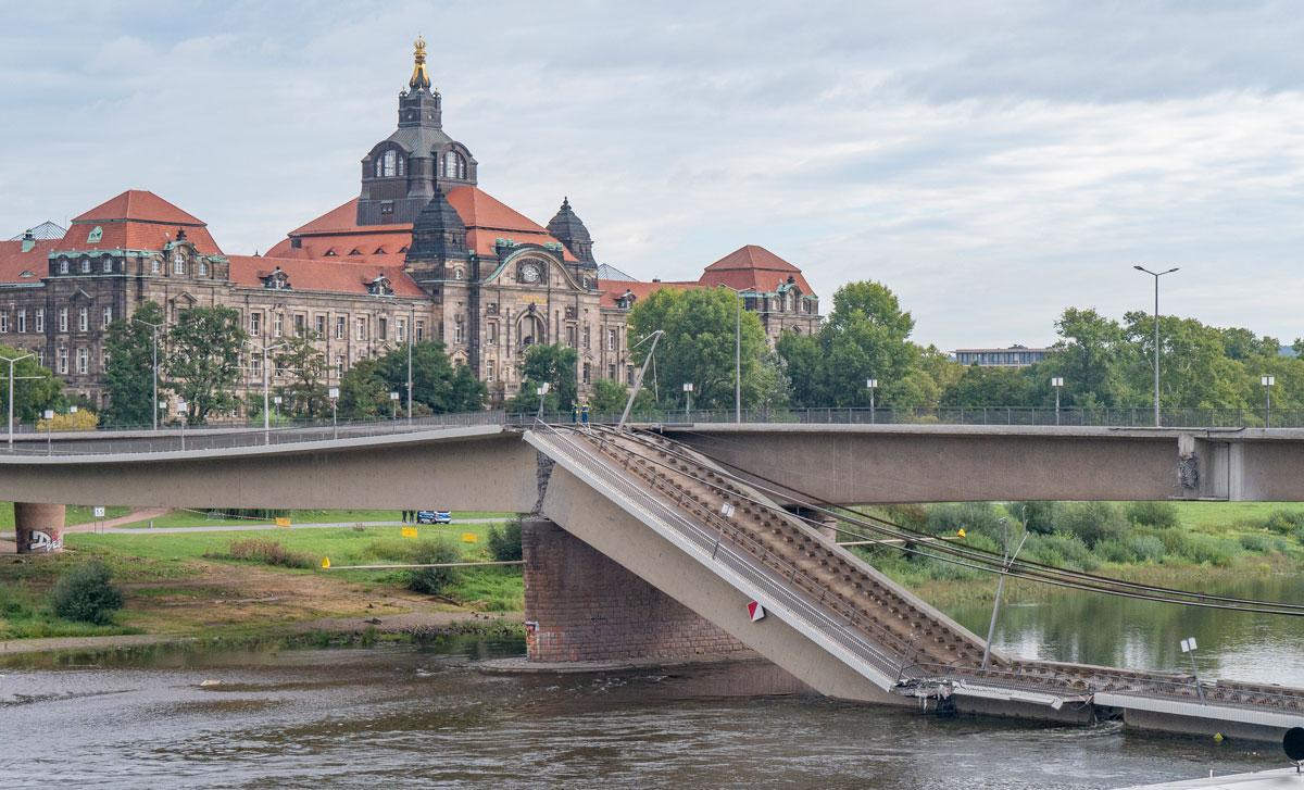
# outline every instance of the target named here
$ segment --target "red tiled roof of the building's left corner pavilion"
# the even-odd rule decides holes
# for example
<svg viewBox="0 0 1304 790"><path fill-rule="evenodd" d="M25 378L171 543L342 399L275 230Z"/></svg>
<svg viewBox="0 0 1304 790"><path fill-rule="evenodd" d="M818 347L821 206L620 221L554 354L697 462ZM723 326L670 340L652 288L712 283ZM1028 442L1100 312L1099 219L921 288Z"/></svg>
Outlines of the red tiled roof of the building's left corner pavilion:
<svg viewBox="0 0 1304 790"><path fill-rule="evenodd" d="M95 227L102 229L100 240L87 241ZM76 216L59 250L159 250L176 239L179 228L201 253L222 254L203 220L143 189L128 189Z"/></svg>

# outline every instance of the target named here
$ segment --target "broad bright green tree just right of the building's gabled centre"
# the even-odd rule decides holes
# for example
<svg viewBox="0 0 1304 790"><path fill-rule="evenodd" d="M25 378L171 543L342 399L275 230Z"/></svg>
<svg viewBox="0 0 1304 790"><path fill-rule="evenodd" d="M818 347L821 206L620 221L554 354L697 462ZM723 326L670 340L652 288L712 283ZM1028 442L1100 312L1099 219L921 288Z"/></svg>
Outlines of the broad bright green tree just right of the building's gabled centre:
<svg viewBox="0 0 1304 790"><path fill-rule="evenodd" d="M636 345L656 330L665 336L657 344L656 365L662 398L682 407L682 385L692 383L692 404L700 408L732 409L734 405L734 353L738 295L725 288L653 291L630 310L630 344ZM743 313L742 323L742 405L751 408L776 399L782 382L765 340L765 330L754 313ZM642 365L652 343L632 349L632 362ZM767 370L767 365L773 368ZM784 398L786 400L786 383Z"/></svg>

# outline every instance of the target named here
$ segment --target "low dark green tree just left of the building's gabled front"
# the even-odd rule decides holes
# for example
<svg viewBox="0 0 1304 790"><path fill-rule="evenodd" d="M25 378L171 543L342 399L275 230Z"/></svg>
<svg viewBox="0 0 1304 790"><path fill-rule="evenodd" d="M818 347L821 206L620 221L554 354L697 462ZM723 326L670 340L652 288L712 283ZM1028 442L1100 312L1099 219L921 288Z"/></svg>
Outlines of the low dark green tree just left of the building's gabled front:
<svg viewBox="0 0 1304 790"><path fill-rule="evenodd" d="M407 402L407 345L390 349L377 360L377 369L387 387ZM413 412L449 415L484 408L489 395L484 382L467 365L454 365L443 343L426 342L412 345Z"/></svg>

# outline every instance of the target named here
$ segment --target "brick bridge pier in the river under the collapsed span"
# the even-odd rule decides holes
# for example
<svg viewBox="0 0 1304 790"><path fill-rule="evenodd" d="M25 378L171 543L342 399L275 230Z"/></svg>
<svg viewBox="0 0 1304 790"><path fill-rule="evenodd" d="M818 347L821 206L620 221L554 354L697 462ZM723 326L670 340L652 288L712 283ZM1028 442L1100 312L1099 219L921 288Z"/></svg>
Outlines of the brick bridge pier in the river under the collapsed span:
<svg viewBox="0 0 1304 790"><path fill-rule="evenodd" d="M683 661L747 648L544 519L522 523L531 661Z"/></svg>

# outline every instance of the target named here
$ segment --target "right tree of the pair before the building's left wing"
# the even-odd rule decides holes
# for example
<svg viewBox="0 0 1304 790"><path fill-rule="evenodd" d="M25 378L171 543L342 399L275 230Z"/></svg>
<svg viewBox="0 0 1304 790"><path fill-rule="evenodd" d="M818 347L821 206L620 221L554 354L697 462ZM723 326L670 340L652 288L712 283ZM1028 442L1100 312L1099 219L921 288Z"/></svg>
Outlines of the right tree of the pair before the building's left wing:
<svg viewBox="0 0 1304 790"><path fill-rule="evenodd" d="M184 310L168 332L168 387L185 399L192 422L236 408L245 336L240 313L222 306Z"/></svg>

